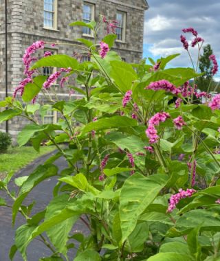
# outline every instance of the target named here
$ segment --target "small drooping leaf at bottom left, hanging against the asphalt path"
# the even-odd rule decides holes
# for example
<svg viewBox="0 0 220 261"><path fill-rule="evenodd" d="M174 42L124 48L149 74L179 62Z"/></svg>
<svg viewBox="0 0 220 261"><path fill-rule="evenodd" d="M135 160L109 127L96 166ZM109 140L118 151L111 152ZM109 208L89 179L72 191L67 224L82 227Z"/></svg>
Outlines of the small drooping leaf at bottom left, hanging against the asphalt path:
<svg viewBox="0 0 220 261"><path fill-rule="evenodd" d="M27 242L28 238L32 234L32 231L36 226L30 226L30 225L22 225L19 227L15 233L15 245L17 249L19 249L19 252L21 253L21 256L23 257L23 260L28 261L26 249L27 245L25 242Z"/></svg>

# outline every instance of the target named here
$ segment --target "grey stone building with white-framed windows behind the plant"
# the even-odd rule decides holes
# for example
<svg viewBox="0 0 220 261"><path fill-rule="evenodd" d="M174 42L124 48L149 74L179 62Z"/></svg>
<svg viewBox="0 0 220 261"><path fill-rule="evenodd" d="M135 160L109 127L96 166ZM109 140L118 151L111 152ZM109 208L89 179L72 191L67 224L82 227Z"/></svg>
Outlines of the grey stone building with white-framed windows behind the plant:
<svg viewBox="0 0 220 261"><path fill-rule="evenodd" d="M0 100L5 95L4 3L5 0L0 0ZM78 20L98 21L100 14L118 21L113 49L126 62L138 62L142 58L144 11L147 9L146 0L8 0L8 95L12 95L23 79L22 56L29 45L39 40L76 43L73 39L92 39L94 36L88 28L69 27L69 23ZM98 38L104 34L103 27L98 32ZM73 55L73 48L68 45L47 47L55 54ZM9 121L10 125L12 122ZM21 122L13 122L9 130L16 134L22 125ZM4 124L1 124L0 131L4 128Z"/></svg>

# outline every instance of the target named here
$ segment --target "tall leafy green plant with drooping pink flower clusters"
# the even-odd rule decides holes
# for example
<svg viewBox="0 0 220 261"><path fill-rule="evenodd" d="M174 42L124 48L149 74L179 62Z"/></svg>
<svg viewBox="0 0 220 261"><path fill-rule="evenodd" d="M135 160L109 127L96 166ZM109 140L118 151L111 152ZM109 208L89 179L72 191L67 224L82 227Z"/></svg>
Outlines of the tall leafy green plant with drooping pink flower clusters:
<svg viewBox="0 0 220 261"><path fill-rule="evenodd" d="M96 23L71 25L89 27L96 39ZM184 32L192 32L192 47L201 49L197 32ZM39 238L52 251L41 260L219 260L219 95L199 95L195 67L166 69L179 54L130 65L110 50L114 40L114 34L100 45L81 39L79 47L91 56L84 63L61 54L36 60L32 54L45 43L34 43L23 58L27 77L14 98L1 102L8 109L1 111L0 122L12 117L32 122L19 133L20 146L31 141L39 150L46 140L58 149L17 182L17 194L8 190L10 177L0 183L14 201L12 222L19 212L27 220L17 229L10 258L19 250L28 260L27 247ZM188 52L186 37L181 41ZM211 59L214 74L217 63ZM40 67L60 69L33 78ZM61 76L61 86L80 93L80 99L58 100L50 93ZM71 78L84 87L72 87ZM60 115L58 123L41 124L40 91L50 102L47 109ZM59 157L68 163L61 172L54 165ZM54 198L32 214L32 205L23 201L48 177L57 179ZM73 231L78 222L87 227L85 234ZM71 248L77 248L74 257Z"/></svg>

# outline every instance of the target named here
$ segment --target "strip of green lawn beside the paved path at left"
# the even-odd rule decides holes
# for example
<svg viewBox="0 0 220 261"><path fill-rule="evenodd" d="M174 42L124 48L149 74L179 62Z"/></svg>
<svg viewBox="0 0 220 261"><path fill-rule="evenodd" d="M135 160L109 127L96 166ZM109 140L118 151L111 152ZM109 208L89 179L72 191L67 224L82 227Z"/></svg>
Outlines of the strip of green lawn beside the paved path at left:
<svg viewBox="0 0 220 261"><path fill-rule="evenodd" d="M6 153L0 154L0 179L3 179L10 172L17 172L29 163L55 150L54 146L43 146L40 152L36 152L32 147L13 147Z"/></svg>

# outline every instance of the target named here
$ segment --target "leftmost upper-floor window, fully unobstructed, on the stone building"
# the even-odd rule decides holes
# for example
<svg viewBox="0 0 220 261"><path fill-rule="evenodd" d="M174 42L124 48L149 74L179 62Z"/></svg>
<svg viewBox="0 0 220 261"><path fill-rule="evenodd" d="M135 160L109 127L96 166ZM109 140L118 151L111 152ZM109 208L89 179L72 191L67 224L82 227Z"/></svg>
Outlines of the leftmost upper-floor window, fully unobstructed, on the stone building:
<svg viewBox="0 0 220 261"><path fill-rule="evenodd" d="M57 0L44 0L43 27L56 30Z"/></svg>

